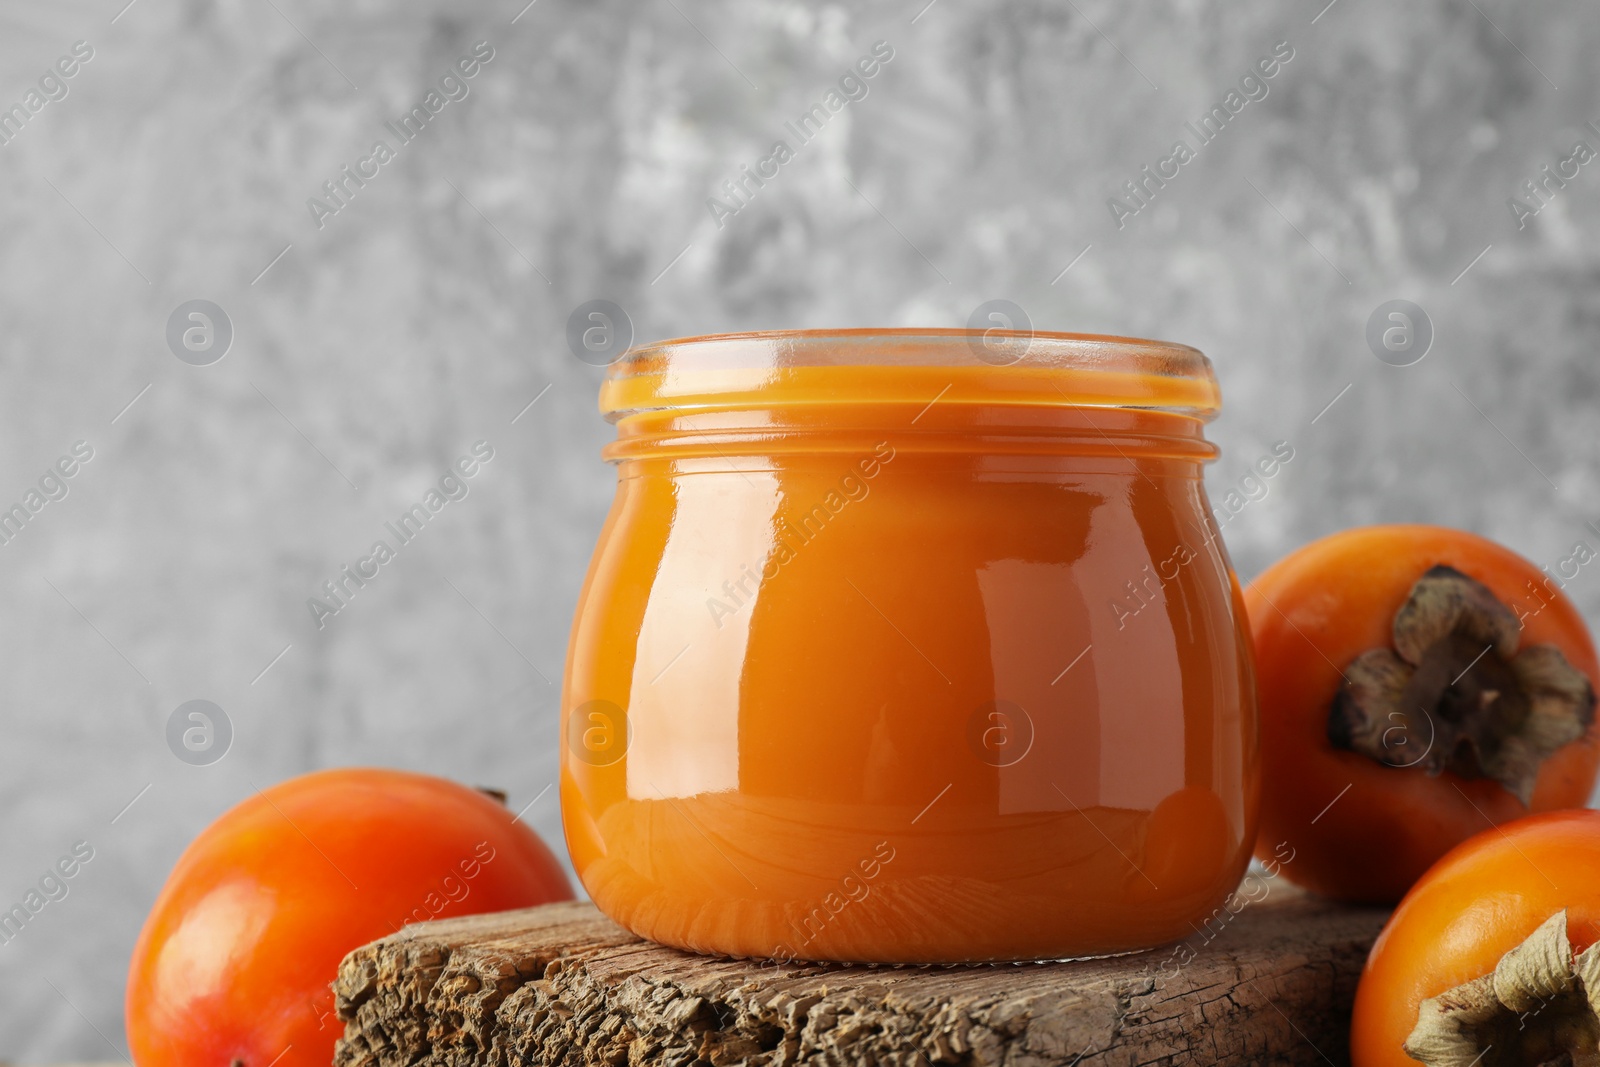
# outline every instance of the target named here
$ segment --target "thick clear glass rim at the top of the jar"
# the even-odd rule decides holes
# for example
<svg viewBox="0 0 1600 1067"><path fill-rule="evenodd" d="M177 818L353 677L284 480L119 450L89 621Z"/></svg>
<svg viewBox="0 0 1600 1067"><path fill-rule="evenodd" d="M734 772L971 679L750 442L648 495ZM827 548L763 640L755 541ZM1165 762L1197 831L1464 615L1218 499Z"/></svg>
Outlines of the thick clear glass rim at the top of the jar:
<svg viewBox="0 0 1600 1067"><path fill-rule="evenodd" d="M938 379L938 382L934 381ZM1114 334L853 328L763 330L635 346L606 370L600 411L786 403L1082 405L1155 408L1211 419L1211 360L1171 341Z"/></svg>

